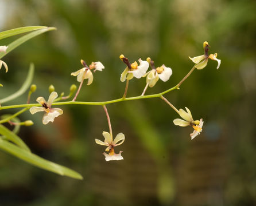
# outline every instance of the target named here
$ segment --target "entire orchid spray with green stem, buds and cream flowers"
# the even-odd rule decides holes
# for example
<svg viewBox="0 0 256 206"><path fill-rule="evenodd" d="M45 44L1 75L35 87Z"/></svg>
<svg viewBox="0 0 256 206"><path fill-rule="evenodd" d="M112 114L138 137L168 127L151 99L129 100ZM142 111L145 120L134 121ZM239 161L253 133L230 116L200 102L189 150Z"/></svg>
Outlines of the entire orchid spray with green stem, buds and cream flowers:
<svg viewBox="0 0 256 206"><path fill-rule="evenodd" d="M70 88L70 93L68 96L64 96L64 93L61 93L60 97L58 97L57 92L55 92L55 88L53 85L49 87L49 98L48 101L45 101L44 97L38 97L36 101L39 103L38 104L29 104L30 100L30 95L36 90L36 85L32 85L29 91L29 96L28 96L28 104L24 104L22 106L19 105L14 105L14 106L1 106L0 109L9 109L9 108L18 108L18 107L24 107L24 109L17 114L14 114L14 116L18 116L18 114L25 112L25 110L30 111L31 114L37 113L37 112L44 112L44 116L42 117L42 123L43 124L48 124L49 122L53 122L56 117L59 117L61 114L63 114L63 110L60 108L54 108L55 105L67 105L67 104L82 104L82 105L101 105L103 106L104 112L106 113L107 117L107 122L108 122L108 127L109 127L109 132L103 132L104 136L104 141L99 140L98 138L95 139L96 144L99 145L104 145L107 146L105 149L105 152L103 155L105 156L106 161L110 160L123 160L123 157L121 155L122 151L119 153L115 153L114 147L123 144L125 141L125 134L123 133L118 133L117 136L113 140L113 132L111 128L111 122L110 122L110 116L108 114L106 105L107 104L113 104L115 102L120 102L120 101L127 101L127 100L139 100L142 98L155 98L155 97L160 97L162 100L166 102L181 118L176 118L173 120L174 125L178 126L191 126L193 128L193 132L190 134L191 140L195 138L197 135L200 134L203 128L203 119L200 118L200 120L193 120L191 111L185 107L186 111L184 109L176 109L173 104L171 104L163 95L174 90L174 89L179 89L181 84L190 76L190 74L193 72L195 69L203 69L205 66L207 66L208 59L215 60L218 62L217 69L219 69L220 66L220 60L218 60L217 53L215 54L208 54L209 50L209 44L208 42L203 43L203 49L204 49L204 54L201 56L197 57L189 57L190 60L192 60L195 65L193 68L189 71L187 76L183 78L173 88L170 88L162 93L158 94L151 94L145 96L146 90L149 88L152 88L155 86L158 82L158 80L161 81L168 81L170 79L170 76L172 76L173 70L162 64L161 66L155 66L154 61L148 57L146 60L142 60L141 58L138 59L137 61L134 61L133 63L130 63L129 59L126 58L123 54L119 56L120 60L126 65L123 72L121 73L120 80L121 82L126 82L125 86L125 92L122 96L122 98L119 98L117 100L111 100L111 101L105 101L105 102L76 102L76 98L78 94L80 93L80 90L82 89L82 85L84 80L88 80L87 85L91 85L93 80L94 80L94 74L96 71L102 72L104 69L103 64L100 61L95 61L92 62L89 66L87 65L86 61L81 60L81 64L83 65L82 69L77 70L76 72L72 72L71 76L75 76L77 82L80 82L79 88L76 90L76 85L72 85ZM0 53L1 52L6 52L7 46L0 46ZM139 64L138 64L139 63ZM6 72L8 71L7 65L5 62L0 60L0 69L1 66L4 65L6 68ZM150 69L149 69L150 68ZM136 97L126 97L127 96L127 90L129 86L129 81L131 81L133 78L145 78L146 86L143 89L143 92L141 96L136 96ZM60 100L65 100L67 98L70 98L73 93L76 94L73 97L72 101L66 101L66 102L60 102ZM8 119L8 121L10 118ZM28 120L30 121L30 120ZM7 122L5 120L0 121L2 122ZM32 125L33 122L29 125ZM26 124L24 124L26 125Z"/></svg>

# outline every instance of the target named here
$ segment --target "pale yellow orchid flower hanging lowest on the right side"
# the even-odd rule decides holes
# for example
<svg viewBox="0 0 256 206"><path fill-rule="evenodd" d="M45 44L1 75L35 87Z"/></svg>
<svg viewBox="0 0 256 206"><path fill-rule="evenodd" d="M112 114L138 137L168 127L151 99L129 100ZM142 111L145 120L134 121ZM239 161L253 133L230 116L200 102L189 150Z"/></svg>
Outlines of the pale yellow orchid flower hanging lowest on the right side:
<svg viewBox="0 0 256 206"><path fill-rule="evenodd" d="M183 118L183 120L181 120L180 118L176 118L175 120L173 120L173 123L174 125L178 125L178 126L192 126L194 131L193 133L190 134L190 136L191 136L191 140L193 140L193 138L199 135L200 132L202 131L204 122L202 118L200 119L200 121L199 120L194 121L190 110L188 108L186 108L186 110L187 112L185 112L183 109L180 109L179 114Z"/></svg>

